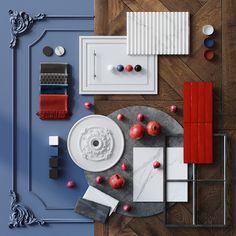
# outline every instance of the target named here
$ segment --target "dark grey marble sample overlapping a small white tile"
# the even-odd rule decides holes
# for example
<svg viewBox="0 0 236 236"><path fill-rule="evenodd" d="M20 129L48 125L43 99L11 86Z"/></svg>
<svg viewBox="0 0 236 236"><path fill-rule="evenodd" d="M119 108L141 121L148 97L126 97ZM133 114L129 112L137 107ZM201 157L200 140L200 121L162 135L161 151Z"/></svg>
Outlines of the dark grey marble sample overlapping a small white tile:
<svg viewBox="0 0 236 236"><path fill-rule="evenodd" d="M106 223L110 209L108 206L81 198L76 204L75 212L95 221Z"/></svg>

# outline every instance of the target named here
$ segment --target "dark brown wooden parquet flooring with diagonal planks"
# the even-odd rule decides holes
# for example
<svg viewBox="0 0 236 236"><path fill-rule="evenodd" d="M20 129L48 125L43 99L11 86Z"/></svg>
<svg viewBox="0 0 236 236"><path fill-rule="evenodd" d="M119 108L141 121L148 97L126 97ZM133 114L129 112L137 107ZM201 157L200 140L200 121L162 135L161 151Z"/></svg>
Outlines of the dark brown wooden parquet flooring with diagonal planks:
<svg viewBox="0 0 236 236"><path fill-rule="evenodd" d="M109 113L127 106L146 105L156 107L172 115L183 124L183 82L213 81L214 132L226 132L229 136L228 159L228 222L219 229L166 228L163 214L147 218L128 218L114 214L108 224L95 224L96 236L203 236L236 235L236 1L235 0L95 0L95 31L98 35L125 35L127 11L190 11L191 55L159 57L158 95L99 95L95 97L95 113ZM203 59L204 24L214 25L216 60ZM169 106L176 104L178 112L172 114ZM222 177L222 149L214 144L215 162L197 171L202 178ZM189 198L191 199L191 186ZM198 220L201 223L222 220L222 186L198 188ZM209 212L204 209L207 201ZM176 204L169 211L175 222L191 220L192 202Z"/></svg>

